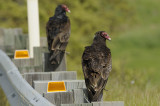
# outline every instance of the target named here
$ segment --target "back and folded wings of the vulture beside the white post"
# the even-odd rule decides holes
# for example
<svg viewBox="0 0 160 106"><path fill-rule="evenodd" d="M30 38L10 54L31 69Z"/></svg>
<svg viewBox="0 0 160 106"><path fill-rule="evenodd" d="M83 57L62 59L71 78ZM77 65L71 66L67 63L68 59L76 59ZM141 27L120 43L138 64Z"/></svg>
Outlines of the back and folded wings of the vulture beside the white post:
<svg viewBox="0 0 160 106"><path fill-rule="evenodd" d="M48 49L65 51L70 36L69 18L59 19L51 17L47 23Z"/></svg>

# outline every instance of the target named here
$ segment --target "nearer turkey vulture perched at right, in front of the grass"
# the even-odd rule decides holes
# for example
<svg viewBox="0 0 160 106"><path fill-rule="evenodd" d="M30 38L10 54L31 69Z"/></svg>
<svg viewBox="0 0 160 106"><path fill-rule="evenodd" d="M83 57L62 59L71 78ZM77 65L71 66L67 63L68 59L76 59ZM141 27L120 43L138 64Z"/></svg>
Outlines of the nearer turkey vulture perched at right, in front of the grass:
<svg viewBox="0 0 160 106"><path fill-rule="evenodd" d="M111 40L105 31L98 31L91 46L85 47L82 55L82 68L90 102L101 101L103 90L112 69L110 49L106 39Z"/></svg>

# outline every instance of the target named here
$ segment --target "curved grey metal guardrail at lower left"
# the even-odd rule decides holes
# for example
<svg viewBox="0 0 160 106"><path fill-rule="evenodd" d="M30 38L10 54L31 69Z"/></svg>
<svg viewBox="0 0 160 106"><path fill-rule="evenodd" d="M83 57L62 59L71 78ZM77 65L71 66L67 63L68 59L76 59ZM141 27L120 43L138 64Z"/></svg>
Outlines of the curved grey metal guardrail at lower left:
<svg viewBox="0 0 160 106"><path fill-rule="evenodd" d="M0 50L0 85L11 106L54 106L20 75L9 57Z"/></svg>

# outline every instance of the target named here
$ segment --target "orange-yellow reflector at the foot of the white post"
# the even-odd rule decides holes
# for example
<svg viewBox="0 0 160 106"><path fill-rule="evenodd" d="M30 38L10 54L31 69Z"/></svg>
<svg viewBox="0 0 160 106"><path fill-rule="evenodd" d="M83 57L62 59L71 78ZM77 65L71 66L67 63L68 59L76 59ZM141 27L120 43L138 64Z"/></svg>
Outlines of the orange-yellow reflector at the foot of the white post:
<svg viewBox="0 0 160 106"><path fill-rule="evenodd" d="M24 59L29 58L28 50L16 50L14 54L14 59Z"/></svg>

